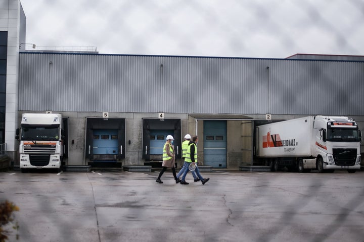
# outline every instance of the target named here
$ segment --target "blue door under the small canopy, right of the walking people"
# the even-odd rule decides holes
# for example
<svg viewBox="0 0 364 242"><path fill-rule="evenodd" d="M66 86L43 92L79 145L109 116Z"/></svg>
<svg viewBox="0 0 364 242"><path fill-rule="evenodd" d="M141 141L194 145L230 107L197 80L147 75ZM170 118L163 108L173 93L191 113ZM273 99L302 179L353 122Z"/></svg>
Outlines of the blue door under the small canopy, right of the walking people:
<svg viewBox="0 0 364 242"><path fill-rule="evenodd" d="M204 165L226 168L226 121L204 121Z"/></svg>

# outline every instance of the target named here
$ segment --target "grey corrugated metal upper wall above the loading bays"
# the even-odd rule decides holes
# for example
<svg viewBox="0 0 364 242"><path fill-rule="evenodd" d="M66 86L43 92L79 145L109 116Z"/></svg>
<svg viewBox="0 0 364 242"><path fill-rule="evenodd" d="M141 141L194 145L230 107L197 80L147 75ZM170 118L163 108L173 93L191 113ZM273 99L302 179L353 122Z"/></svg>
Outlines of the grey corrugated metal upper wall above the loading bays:
<svg viewBox="0 0 364 242"><path fill-rule="evenodd" d="M364 62L21 53L19 110L363 115Z"/></svg>

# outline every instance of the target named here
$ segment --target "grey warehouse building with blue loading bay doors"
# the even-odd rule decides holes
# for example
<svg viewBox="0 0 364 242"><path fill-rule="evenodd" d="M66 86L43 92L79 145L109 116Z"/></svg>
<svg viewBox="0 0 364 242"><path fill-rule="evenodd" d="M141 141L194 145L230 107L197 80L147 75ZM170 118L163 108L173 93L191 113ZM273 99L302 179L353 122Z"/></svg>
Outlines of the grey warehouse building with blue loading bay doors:
<svg viewBox="0 0 364 242"><path fill-rule="evenodd" d="M180 145L188 133L200 137L198 159L204 165L238 168L254 164L257 125L345 115L363 130L363 56L277 59L25 50L25 16L19 1L9 2L18 3L8 6L17 8L16 20L10 20L10 12L7 16L17 24L0 28L5 58L0 64L7 66L0 73L0 87L6 85L6 92L0 90L5 94L0 101L6 100L0 108L5 107L3 137L15 165L15 130L27 112L65 117L67 165L157 166L165 137L174 136L181 158Z"/></svg>

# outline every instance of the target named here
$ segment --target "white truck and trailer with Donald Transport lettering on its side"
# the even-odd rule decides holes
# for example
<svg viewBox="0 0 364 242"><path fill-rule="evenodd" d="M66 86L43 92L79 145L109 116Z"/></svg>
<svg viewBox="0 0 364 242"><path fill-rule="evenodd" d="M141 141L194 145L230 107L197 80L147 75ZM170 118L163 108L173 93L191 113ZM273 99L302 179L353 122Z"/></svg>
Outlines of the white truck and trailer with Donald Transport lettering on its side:
<svg viewBox="0 0 364 242"><path fill-rule="evenodd" d="M308 116L257 126L255 156L272 170L360 169L361 132L343 116Z"/></svg>

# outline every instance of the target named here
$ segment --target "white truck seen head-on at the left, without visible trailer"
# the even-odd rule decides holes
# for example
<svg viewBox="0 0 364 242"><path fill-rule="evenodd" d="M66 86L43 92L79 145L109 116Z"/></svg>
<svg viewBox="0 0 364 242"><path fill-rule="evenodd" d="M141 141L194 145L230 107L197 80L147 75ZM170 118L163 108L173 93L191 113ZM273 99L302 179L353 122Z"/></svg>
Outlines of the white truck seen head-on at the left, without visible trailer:
<svg viewBox="0 0 364 242"><path fill-rule="evenodd" d="M20 141L20 169L52 168L61 170L63 158L63 122L58 113L24 113L21 128L16 130Z"/></svg>

